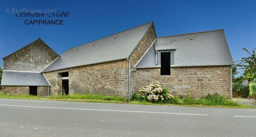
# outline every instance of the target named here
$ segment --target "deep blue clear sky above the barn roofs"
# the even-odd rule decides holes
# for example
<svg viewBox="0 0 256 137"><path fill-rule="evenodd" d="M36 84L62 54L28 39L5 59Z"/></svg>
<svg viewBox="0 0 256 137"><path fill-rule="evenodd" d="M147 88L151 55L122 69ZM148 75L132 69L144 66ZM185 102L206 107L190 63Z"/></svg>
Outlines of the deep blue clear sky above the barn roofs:
<svg viewBox="0 0 256 137"><path fill-rule="evenodd" d="M158 37L224 29L234 61L256 47L255 1L2 1L0 57L39 37L56 53L154 21ZM6 9L68 11L69 17L16 17ZM63 19L64 25L25 25ZM3 66L3 61L0 61Z"/></svg>

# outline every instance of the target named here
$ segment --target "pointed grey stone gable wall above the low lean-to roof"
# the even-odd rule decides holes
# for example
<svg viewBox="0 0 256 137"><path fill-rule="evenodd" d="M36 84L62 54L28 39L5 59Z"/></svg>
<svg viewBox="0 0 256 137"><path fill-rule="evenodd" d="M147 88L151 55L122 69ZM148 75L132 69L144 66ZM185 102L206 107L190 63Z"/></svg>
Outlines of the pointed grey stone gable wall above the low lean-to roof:
<svg viewBox="0 0 256 137"><path fill-rule="evenodd" d="M41 39L4 58L4 70L41 71L58 55Z"/></svg>

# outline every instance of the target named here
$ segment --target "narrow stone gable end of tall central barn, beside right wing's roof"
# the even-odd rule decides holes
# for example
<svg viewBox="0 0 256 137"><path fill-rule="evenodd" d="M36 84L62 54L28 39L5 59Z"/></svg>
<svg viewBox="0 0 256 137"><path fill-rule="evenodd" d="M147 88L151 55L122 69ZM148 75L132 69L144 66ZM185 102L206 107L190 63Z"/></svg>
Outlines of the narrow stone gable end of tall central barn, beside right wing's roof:
<svg viewBox="0 0 256 137"><path fill-rule="evenodd" d="M135 49L133 51L133 53L131 54L131 57L130 57L130 67L131 67L131 70L132 69L135 69L134 66L135 64L140 60L140 58L143 56L143 54L145 54L145 52L148 50L148 48L151 46L151 44L154 42L154 40L156 39L156 34L155 34L155 29L154 29L154 26L152 25L148 32L145 34L144 38L142 41L140 41L137 49ZM135 83L135 79L134 79L135 75L134 75L134 72L131 73L131 80L130 80L130 92L135 92L135 87L136 83ZM131 94L132 95L132 94Z"/></svg>

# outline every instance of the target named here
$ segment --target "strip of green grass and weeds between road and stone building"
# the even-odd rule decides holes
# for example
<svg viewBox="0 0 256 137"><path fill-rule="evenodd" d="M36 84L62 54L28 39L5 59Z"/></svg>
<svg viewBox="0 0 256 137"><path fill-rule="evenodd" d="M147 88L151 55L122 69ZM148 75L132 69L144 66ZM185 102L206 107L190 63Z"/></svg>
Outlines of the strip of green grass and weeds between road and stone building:
<svg viewBox="0 0 256 137"><path fill-rule="evenodd" d="M0 98L13 99L36 99L36 100L56 100L56 101L76 101L76 102L98 102L98 103L128 103L125 97L104 96L100 94L83 94L83 95L67 95L67 96L50 96L40 97L31 95L4 95L0 92ZM129 104L140 105L170 105L170 106L192 106L192 107L220 107L220 108L255 108L249 105L241 105L235 101L221 96L206 96L200 99L192 97L173 97L169 102L151 103L143 100L130 101Z"/></svg>

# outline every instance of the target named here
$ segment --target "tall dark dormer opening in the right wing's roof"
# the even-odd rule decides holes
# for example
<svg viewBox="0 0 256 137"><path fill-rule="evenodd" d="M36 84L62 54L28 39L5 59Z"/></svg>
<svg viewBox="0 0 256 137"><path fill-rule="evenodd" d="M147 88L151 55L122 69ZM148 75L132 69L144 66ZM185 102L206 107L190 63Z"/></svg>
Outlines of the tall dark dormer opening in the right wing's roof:
<svg viewBox="0 0 256 137"><path fill-rule="evenodd" d="M161 75L171 75L171 52L161 52Z"/></svg>

